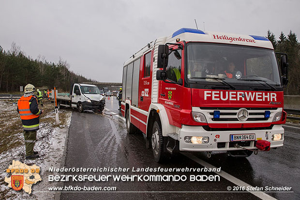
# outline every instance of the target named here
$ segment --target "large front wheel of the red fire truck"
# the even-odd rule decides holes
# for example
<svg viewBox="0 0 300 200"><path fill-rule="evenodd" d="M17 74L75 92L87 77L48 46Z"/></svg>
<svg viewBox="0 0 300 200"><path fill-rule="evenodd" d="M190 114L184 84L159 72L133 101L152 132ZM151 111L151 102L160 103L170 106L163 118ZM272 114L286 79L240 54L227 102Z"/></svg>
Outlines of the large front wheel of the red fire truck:
<svg viewBox="0 0 300 200"><path fill-rule="evenodd" d="M158 163L162 162L166 157L166 153L164 152L164 137L162 134L162 128L160 123L157 121L153 123L151 145L154 160Z"/></svg>

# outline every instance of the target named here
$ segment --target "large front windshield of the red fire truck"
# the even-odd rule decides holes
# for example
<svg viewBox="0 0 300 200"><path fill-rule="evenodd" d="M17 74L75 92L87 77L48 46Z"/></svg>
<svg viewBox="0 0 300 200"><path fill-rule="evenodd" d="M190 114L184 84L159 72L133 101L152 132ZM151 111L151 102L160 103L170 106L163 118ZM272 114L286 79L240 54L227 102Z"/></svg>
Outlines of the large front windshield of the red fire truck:
<svg viewBox="0 0 300 200"><path fill-rule="evenodd" d="M192 88L215 89L226 82L228 89L282 91L273 50L190 42L186 54L185 78Z"/></svg>

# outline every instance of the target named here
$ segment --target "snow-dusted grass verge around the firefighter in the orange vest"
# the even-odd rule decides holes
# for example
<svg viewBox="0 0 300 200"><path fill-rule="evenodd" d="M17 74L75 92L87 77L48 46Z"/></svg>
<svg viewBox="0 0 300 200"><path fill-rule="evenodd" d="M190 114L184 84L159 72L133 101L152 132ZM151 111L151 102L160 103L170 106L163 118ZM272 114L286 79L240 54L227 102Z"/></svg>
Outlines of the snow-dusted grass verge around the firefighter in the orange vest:
<svg viewBox="0 0 300 200"><path fill-rule="evenodd" d="M45 104L44 104L45 105ZM44 106L44 108L47 105ZM52 108L52 105L48 105ZM55 112L49 109L45 118L54 118ZM7 115L10 112L16 112L16 106L11 102L5 102L0 100L0 114ZM7 113L7 114L5 114ZM72 109L62 109L60 113L63 113L65 118L65 123L56 126L55 123L51 121L46 121L40 123L40 130L37 131L37 142L34 146L34 151L38 151L40 157L34 160L25 160L25 143L23 133L16 133L14 139L22 142L21 146L15 147L8 151L0 154L0 199L38 199L38 200L49 200L55 198L55 193L39 193L47 192L49 186L56 186L55 183L48 182L48 174L56 175L54 172L48 172L50 167L59 168L62 161L62 156L64 152L65 139L69 131L69 126L71 122ZM15 123L20 118L11 118L10 123ZM1 130L0 130L1 132ZM12 188L8 188L7 184L4 182L4 177L9 177L11 174L6 173L6 169L12 164L13 160L19 160L26 165L36 164L41 168L41 178L42 181L36 185L32 185L32 193L29 195L23 190L15 191Z"/></svg>

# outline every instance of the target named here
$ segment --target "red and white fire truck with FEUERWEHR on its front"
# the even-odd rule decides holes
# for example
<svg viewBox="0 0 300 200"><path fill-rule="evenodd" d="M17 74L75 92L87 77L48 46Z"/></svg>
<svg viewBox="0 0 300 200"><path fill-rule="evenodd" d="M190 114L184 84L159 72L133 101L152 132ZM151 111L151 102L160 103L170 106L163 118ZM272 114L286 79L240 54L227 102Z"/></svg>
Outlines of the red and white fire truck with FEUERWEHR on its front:
<svg viewBox="0 0 300 200"><path fill-rule="evenodd" d="M276 57L277 54L277 57ZM283 146L287 55L261 36L182 28L124 63L121 113L162 161L178 151L247 157Z"/></svg>

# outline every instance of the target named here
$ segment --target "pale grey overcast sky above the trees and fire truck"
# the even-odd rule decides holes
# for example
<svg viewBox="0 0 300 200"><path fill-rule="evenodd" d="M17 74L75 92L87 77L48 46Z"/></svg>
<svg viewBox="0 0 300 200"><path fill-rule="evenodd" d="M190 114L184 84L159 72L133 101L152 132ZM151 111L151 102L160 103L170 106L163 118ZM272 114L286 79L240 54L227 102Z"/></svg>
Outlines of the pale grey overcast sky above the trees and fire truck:
<svg viewBox="0 0 300 200"><path fill-rule="evenodd" d="M180 28L300 37L300 0L0 0L0 46L62 60L100 82L121 82L136 51Z"/></svg>

